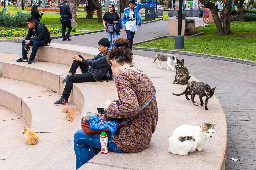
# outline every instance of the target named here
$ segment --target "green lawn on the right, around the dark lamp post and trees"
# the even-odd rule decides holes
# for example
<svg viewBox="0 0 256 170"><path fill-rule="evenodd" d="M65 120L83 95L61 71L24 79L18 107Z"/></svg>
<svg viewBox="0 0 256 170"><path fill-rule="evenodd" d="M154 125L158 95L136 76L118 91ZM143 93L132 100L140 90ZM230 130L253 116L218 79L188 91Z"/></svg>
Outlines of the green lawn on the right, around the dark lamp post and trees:
<svg viewBox="0 0 256 170"><path fill-rule="evenodd" d="M241 58L256 61L256 22L231 22L230 28L234 35L218 35L214 24L196 29L196 32L204 32L204 35L185 38L184 49L226 57ZM136 47L174 49L174 38L163 38Z"/></svg>

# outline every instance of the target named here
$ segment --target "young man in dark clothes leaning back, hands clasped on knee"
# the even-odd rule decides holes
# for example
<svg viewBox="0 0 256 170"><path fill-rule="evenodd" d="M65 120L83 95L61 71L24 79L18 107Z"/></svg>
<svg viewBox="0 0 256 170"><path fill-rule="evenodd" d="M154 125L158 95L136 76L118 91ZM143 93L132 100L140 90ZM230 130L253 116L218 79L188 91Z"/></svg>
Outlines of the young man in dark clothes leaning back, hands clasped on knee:
<svg viewBox="0 0 256 170"><path fill-rule="evenodd" d="M66 83L62 96L58 101L54 102L53 105L68 104L68 98L71 93L73 83L95 82L102 79L109 71L111 71L106 60L110 42L107 38L102 38L98 44L100 53L94 58L84 59L81 55L74 55L74 61L70 67L69 74L61 82ZM78 66L80 67L82 74L75 74ZM108 79L110 74L107 76Z"/></svg>

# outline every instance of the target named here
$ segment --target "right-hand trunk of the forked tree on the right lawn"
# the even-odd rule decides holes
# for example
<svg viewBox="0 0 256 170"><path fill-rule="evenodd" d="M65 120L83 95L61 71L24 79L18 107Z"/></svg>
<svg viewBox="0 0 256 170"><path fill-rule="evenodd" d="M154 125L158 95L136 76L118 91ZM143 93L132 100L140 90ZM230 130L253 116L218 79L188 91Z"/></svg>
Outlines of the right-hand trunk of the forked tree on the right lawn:
<svg viewBox="0 0 256 170"><path fill-rule="evenodd" d="M223 31L225 35L234 34L230 29L230 11L231 11L231 3L232 0L226 0L226 5L222 11L222 19L223 19Z"/></svg>

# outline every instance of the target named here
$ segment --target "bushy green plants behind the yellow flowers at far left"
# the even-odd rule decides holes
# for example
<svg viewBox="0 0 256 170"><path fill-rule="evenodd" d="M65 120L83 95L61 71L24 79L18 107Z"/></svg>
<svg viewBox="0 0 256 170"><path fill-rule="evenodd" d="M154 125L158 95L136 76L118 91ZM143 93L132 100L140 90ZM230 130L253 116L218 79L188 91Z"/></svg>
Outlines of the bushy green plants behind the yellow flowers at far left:
<svg viewBox="0 0 256 170"><path fill-rule="evenodd" d="M27 27L29 17L31 17L31 14L28 12L1 13L0 25L4 27Z"/></svg>

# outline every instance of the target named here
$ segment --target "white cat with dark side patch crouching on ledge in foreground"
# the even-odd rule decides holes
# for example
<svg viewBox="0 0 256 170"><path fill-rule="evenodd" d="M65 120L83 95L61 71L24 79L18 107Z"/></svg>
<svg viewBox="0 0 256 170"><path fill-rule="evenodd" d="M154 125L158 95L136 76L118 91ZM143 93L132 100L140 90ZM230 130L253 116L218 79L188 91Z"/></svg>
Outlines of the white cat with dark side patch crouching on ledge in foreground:
<svg viewBox="0 0 256 170"><path fill-rule="evenodd" d="M201 146L215 133L215 125L202 123L201 126L181 125L177 127L169 138L169 152L187 155L195 150L201 151Z"/></svg>

